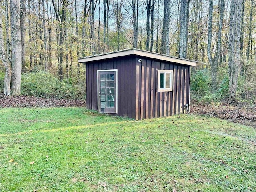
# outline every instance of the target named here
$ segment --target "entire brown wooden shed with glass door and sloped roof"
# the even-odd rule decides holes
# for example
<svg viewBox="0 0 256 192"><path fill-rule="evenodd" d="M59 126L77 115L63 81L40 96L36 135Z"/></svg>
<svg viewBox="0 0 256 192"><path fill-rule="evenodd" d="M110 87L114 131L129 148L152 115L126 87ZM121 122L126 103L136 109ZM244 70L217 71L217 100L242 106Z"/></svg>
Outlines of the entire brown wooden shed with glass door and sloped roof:
<svg viewBox="0 0 256 192"><path fill-rule="evenodd" d="M80 58L87 108L138 119L186 113L190 66L204 63L129 49Z"/></svg>

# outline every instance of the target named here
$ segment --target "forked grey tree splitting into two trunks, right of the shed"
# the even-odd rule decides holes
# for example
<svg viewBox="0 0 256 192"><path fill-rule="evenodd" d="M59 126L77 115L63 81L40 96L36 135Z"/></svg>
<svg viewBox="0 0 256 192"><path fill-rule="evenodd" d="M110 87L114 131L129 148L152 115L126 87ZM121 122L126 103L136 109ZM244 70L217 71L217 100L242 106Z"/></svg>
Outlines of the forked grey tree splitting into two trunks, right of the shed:
<svg viewBox="0 0 256 192"><path fill-rule="evenodd" d="M218 82L218 65L219 57L221 50L221 36L222 36L222 26L223 26L223 16L224 16L224 1L220 0L220 19L219 19L219 29L218 29L218 42L216 47L216 53L213 57L213 48L212 48L212 10L213 2L209 0L209 20L208 20L208 46L207 46L207 55L211 65L211 74L212 74L212 92L216 91L219 87Z"/></svg>

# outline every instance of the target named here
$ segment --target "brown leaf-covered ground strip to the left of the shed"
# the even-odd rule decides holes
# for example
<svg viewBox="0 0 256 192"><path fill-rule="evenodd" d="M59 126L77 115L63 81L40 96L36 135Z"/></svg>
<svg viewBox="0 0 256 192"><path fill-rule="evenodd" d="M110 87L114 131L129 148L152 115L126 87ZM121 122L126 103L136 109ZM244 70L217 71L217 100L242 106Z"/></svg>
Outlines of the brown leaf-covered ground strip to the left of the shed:
<svg viewBox="0 0 256 192"><path fill-rule="evenodd" d="M0 96L0 107L84 107L85 100L39 98L33 96Z"/></svg>

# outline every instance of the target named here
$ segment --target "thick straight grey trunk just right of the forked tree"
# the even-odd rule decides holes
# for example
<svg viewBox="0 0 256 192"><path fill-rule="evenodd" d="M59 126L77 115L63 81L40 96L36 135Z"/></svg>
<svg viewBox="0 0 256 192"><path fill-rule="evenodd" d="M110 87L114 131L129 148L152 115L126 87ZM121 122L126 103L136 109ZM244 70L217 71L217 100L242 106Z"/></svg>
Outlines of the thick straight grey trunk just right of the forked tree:
<svg viewBox="0 0 256 192"><path fill-rule="evenodd" d="M240 66L240 35L242 5L236 0L230 5L230 29L228 39L229 93L232 100L236 97Z"/></svg>

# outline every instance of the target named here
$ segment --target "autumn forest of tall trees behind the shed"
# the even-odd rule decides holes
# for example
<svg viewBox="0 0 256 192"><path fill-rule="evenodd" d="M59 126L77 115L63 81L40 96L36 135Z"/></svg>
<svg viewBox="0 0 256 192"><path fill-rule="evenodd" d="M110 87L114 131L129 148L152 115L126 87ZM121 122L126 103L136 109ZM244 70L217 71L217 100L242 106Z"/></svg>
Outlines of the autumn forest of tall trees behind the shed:
<svg viewBox="0 0 256 192"><path fill-rule="evenodd" d="M255 20L255 0L0 0L4 94L38 70L80 84L78 58L138 48L209 63L192 68L198 96L255 99Z"/></svg>

